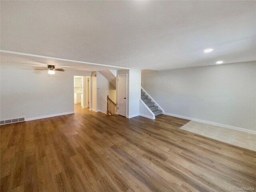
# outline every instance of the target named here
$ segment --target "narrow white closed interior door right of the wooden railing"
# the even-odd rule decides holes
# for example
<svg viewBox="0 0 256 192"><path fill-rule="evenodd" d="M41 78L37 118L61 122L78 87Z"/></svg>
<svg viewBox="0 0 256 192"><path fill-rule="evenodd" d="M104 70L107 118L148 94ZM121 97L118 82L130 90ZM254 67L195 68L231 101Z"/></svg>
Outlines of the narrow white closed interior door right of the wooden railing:
<svg viewBox="0 0 256 192"><path fill-rule="evenodd" d="M126 117L127 74L118 75L118 115Z"/></svg>

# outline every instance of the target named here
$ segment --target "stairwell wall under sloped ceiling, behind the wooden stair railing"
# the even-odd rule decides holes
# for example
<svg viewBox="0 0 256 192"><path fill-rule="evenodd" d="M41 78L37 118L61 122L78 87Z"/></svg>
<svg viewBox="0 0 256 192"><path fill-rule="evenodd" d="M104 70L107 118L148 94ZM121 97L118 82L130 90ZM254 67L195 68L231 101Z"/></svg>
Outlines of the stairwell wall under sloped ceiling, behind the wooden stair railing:
<svg viewBox="0 0 256 192"><path fill-rule="evenodd" d="M116 90L110 82L97 71L97 110L102 113L107 112L107 96L115 102Z"/></svg>

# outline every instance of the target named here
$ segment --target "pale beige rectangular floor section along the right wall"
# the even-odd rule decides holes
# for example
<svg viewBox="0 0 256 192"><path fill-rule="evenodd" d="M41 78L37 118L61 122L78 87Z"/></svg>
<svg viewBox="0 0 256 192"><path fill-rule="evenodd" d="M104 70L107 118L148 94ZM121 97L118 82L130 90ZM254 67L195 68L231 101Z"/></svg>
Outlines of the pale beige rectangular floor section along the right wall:
<svg viewBox="0 0 256 192"><path fill-rule="evenodd" d="M256 135L214 126L206 123L190 121L180 128L234 146L256 151Z"/></svg>

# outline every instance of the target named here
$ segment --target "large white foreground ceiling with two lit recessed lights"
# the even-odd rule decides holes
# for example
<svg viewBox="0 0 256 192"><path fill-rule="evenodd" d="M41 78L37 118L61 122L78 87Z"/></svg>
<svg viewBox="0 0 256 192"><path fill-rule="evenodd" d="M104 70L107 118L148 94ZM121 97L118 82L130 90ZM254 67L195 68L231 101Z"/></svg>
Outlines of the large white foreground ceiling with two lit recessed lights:
<svg viewBox="0 0 256 192"><path fill-rule="evenodd" d="M151 70L256 60L256 1L0 3L1 50Z"/></svg>

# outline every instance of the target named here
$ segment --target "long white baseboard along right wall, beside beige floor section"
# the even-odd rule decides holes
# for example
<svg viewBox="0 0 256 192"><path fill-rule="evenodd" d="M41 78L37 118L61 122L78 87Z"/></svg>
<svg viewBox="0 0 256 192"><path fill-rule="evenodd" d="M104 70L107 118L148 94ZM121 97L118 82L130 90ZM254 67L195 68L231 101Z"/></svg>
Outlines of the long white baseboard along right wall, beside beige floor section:
<svg viewBox="0 0 256 192"><path fill-rule="evenodd" d="M233 130L237 130L237 131L242 131L242 132L246 132L246 133L256 134L256 131L248 130L248 129L244 129L244 128L240 128L240 127L235 127L235 126L230 126L230 125L225 125L225 124L205 121L205 120L201 120L201 119L196 119L196 118L191 118L191 117L186 117L186 116L181 116L181 115L176 115L176 114L171 114L171 113L164 113L164 114L165 115L169 115L169 116L174 116L174 117L182 118L182 119L187 119L187 120L192 120L192 121L196 121L196 122L206 123L206 124L215 125L215 126L219 126L219 127L224 127L224 128L228 128L228 129L233 129Z"/></svg>

